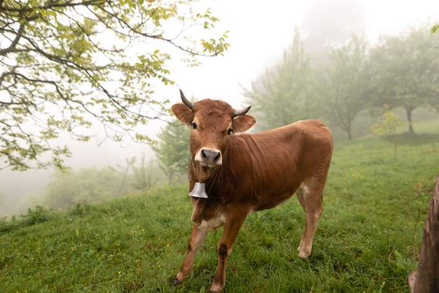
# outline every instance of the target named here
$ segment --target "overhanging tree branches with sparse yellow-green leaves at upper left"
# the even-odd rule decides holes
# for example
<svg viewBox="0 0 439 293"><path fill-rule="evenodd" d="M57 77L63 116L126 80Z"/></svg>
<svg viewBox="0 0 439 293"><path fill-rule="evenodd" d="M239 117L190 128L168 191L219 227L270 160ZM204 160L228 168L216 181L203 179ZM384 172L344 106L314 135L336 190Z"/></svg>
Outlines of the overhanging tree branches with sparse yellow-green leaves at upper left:
<svg viewBox="0 0 439 293"><path fill-rule="evenodd" d="M154 86L173 83L170 52L196 65L229 46L194 2L0 1L0 170L62 169L70 152L55 139L86 141L97 125L150 142L136 126L163 114Z"/></svg>

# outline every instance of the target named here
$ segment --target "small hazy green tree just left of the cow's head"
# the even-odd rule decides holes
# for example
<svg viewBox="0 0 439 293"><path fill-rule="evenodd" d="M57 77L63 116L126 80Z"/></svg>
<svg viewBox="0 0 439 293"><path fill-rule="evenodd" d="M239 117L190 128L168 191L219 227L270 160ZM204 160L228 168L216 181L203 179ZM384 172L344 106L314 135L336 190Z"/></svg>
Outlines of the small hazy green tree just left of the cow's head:
<svg viewBox="0 0 439 293"><path fill-rule="evenodd" d="M168 184L173 183L176 174L187 174L189 159L190 128L186 125L170 123L158 133L158 145L151 146L161 161L161 169L168 177Z"/></svg>

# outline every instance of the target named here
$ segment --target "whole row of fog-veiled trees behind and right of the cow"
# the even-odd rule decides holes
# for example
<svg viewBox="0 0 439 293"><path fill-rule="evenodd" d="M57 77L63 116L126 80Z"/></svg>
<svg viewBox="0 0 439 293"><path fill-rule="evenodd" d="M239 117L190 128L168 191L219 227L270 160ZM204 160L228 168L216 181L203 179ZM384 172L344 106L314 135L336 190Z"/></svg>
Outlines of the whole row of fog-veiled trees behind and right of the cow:
<svg viewBox="0 0 439 293"><path fill-rule="evenodd" d="M358 114L379 117L389 109L404 109L408 130L414 133L415 109L439 110L438 44L438 34L425 28L384 36L377 46L352 34L318 58L306 54L296 31L281 62L245 89L259 118L257 129L322 118L353 139Z"/></svg>

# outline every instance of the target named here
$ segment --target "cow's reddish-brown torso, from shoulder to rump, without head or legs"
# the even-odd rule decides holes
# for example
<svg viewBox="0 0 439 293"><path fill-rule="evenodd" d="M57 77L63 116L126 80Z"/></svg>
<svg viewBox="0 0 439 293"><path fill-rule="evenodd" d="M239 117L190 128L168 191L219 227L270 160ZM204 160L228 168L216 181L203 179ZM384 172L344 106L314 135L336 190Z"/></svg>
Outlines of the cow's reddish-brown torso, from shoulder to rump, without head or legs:
<svg viewBox="0 0 439 293"><path fill-rule="evenodd" d="M331 132L318 120L299 121L258 134L236 135L227 151L230 166L227 169L232 169L229 173L234 174L227 182L235 190L241 186L237 197L245 193L245 197L252 197L255 210L264 210L290 198L322 164L329 168L331 154ZM234 180L236 174L241 175L240 182Z"/></svg>

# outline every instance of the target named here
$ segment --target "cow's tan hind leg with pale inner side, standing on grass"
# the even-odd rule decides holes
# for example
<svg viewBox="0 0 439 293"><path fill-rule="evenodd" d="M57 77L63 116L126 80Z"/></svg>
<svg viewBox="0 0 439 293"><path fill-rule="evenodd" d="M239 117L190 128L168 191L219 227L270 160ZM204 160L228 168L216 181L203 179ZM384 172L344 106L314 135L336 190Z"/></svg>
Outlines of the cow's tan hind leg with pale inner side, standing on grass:
<svg viewBox="0 0 439 293"><path fill-rule="evenodd" d="M313 238L316 233L318 219L323 212L322 200L323 200L323 186L321 184L315 184L309 182L309 184L300 186L296 192L297 198L302 205L305 212L305 229L300 240L300 245L297 248L299 257L305 259L311 254L313 246Z"/></svg>

